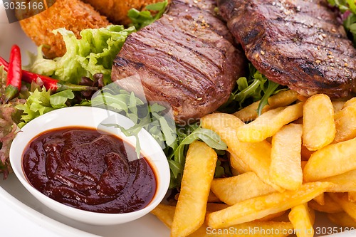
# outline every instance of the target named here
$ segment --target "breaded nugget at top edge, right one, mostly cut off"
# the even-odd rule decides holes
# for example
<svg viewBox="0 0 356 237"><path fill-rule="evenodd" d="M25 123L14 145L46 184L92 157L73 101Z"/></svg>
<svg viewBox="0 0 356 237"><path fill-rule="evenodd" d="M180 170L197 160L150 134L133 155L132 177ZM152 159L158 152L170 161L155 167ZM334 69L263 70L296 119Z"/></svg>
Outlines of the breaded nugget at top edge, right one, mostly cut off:
<svg viewBox="0 0 356 237"><path fill-rule="evenodd" d="M108 17L110 22L127 25L130 19L127 11L134 8L141 11L148 4L153 4L163 0L82 0Z"/></svg>

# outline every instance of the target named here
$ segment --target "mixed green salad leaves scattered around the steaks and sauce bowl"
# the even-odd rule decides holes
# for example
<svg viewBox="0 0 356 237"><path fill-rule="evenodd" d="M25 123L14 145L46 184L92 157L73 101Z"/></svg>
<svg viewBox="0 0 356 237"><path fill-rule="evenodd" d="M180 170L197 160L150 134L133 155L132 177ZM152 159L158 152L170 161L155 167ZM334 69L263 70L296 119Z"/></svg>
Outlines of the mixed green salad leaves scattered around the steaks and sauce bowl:
<svg viewBox="0 0 356 237"><path fill-rule="evenodd" d="M342 14L348 14L344 26L356 41L356 6L353 0L328 0L332 6L340 8ZM60 28L56 33L61 33L67 47L67 53L61 58L48 60L43 58L41 47L37 55L30 55L30 63L25 67L33 73L47 75L59 81L80 84L85 80L95 81L100 78L100 90L95 94L62 90L55 92L46 90L41 83L32 82L24 84L19 96L8 103L0 100L0 173L7 177L11 171L9 164L9 147L16 132L23 125L34 118L51 110L68 106L95 106L104 107L129 117L135 126L125 130L119 127L125 135L137 136L142 128L150 132L161 145L167 155L171 170L170 188L180 186L184 169L185 155L188 144L200 139L219 154L216 165L215 177L230 176L229 162L226 158L226 144L219 135L211 130L203 129L199 122L181 126L174 123L172 115L166 108L157 103L150 104L137 98L134 93L129 93L115 83L111 83L111 66L121 47L130 33L140 30L159 19L167 6L167 0L162 3L151 4L144 11L132 9L128 16L132 26L108 26L107 28L87 29L82 31L81 39L75 38L71 31ZM152 11L156 14L152 15ZM268 97L280 90L288 90L278 83L268 80L253 65L249 65L246 77L236 78L236 88L231 93L229 100L219 110L222 112L236 112L242 107L261 100L258 114L268 104ZM6 85L6 72L0 67L0 93L4 94ZM137 152L140 144L137 143Z"/></svg>

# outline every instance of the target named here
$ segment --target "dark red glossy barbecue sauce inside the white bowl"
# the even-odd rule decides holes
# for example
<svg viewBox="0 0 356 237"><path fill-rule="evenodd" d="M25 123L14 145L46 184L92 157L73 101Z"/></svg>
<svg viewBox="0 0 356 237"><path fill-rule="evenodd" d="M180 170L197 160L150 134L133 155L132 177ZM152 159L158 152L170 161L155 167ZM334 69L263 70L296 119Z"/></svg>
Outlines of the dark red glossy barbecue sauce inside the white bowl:
<svg viewBox="0 0 356 237"><path fill-rule="evenodd" d="M50 130L29 144L23 171L38 191L86 211L120 214L145 208L157 187L145 157L114 135L80 127Z"/></svg>

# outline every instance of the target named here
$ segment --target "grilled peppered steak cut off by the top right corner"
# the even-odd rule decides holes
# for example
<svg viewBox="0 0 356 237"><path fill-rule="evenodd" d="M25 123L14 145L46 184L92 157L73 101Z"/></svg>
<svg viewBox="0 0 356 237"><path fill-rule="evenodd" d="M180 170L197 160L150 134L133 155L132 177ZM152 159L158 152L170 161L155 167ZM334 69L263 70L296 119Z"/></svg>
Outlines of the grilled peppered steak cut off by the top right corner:
<svg viewBox="0 0 356 237"><path fill-rule="evenodd" d="M324 0L217 0L248 60L303 95L344 97L355 87L356 51Z"/></svg>

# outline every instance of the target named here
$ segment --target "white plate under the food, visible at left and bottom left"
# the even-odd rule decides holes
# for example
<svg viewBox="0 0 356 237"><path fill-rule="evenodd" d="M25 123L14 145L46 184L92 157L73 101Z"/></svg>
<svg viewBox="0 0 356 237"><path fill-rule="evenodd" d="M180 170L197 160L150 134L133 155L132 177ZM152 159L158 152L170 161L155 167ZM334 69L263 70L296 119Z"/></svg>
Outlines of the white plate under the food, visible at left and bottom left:
<svg viewBox="0 0 356 237"><path fill-rule="evenodd" d="M21 30L19 23L11 23L6 19L4 4L0 0L0 56L6 60L12 44L18 44L21 50L36 52L36 46ZM26 64L26 55L23 53L23 63ZM0 176L1 178L1 176ZM320 229L320 234L335 233L333 224L322 215L316 218L315 228ZM90 226L70 220L54 213L43 206L22 186L14 174L8 179L0 180L0 229L1 236L169 236L169 229L151 214L131 223L117 226ZM339 232L339 231L337 231ZM356 236L356 231L339 233L337 237ZM223 237L223 236L221 236Z"/></svg>

